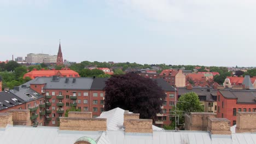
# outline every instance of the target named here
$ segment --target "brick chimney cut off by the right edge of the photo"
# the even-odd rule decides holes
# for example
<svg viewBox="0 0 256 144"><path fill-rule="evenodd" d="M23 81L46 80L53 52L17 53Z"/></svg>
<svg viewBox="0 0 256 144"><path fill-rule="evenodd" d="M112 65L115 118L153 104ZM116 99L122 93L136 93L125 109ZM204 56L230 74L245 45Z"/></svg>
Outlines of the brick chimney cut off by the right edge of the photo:
<svg viewBox="0 0 256 144"><path fill-rule="evenodd" d="M236 133L256 132L256 112L237 112Z"/></svg>

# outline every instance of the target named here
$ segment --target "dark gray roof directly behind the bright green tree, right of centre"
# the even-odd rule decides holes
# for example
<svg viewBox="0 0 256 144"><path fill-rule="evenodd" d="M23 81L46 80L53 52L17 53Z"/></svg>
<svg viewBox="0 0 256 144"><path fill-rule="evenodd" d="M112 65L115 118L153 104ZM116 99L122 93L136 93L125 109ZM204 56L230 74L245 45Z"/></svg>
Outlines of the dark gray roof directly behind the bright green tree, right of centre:
<svg viewBox="0 0 256 144"><path fill-rule="evenodd" d="M206 101L214 101L213 96L217 96L217 90L212 87L193 87L191 90L186 87L178 88L178 96L189 92L195 92L198 96L205 96Z"/></svg>

